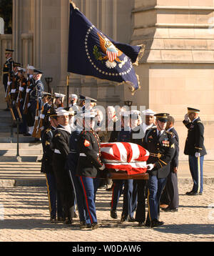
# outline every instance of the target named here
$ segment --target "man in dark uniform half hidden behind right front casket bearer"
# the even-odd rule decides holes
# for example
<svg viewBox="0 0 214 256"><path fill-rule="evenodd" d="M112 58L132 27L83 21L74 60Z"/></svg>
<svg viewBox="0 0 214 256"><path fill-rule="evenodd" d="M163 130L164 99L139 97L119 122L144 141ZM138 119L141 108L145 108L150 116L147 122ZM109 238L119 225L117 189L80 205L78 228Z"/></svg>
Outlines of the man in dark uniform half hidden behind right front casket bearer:
<svg viewBox="0 0 214 256"><path fill-rule="evenodd" d="M165 189L163 189L162 198L166 200L168 207L162 208L164 212L178 212L178 154L179 154L179 138L178 133L174 128L175 119L171 116L168 117L168 122L166 124L166 131L172 132L175 135L175 154L170 162L170 174L168 174L167 182L165 184ZM162 197L163 196L163 197Z"/></svg>

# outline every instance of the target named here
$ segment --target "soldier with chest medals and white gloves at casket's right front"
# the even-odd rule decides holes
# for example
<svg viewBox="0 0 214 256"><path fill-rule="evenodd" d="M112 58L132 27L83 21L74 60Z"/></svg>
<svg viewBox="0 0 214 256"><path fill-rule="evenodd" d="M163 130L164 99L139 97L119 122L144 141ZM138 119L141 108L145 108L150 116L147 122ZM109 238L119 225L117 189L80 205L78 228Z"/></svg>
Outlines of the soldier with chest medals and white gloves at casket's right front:
<svg viewBox="0 0 214 256"><path fill-rule="evenodd" d="M175 154L175 138L165 131L169 114L160 113L156 116L156 128L148 129L143 138L143 147L150 152L148 158L148 215L147 227L163 225L159 221L160 198L165 187L166 177L170 172L170 161Z"/></svg>

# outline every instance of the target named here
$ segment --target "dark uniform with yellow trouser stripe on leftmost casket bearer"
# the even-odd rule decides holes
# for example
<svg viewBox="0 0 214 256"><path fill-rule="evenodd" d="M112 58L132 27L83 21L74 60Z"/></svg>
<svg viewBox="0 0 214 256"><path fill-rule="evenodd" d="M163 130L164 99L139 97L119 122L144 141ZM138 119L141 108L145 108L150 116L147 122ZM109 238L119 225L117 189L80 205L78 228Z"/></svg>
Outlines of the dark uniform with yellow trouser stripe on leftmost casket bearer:
<svg viewBox="0 0 214 256"><path fill-rule="evenodd" d="M53 170L53 136L56 128L49 127L44 131L44 136L42 139L42 147L43 147L43 157L41 162L41 172L46 176L46 186L47 193L49 197L49 212L51 221L56 221L57 219L63 219L63 211L61 206L61 198L57 193L56 189L56 178L54 176Z"/></svg>

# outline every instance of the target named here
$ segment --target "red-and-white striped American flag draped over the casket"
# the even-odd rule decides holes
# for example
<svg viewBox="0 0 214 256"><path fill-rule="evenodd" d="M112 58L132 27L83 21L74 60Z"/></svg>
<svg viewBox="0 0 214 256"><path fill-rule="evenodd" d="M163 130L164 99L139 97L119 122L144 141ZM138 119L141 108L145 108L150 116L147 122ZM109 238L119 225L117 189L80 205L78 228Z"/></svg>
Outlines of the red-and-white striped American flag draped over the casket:
<svg viewBox="0 0 214 256"><path fill-rule="evenodd" d="M145 173L149 152L129 142L101 143L101 158L107 169L124 171L128 175Z"/></svg>

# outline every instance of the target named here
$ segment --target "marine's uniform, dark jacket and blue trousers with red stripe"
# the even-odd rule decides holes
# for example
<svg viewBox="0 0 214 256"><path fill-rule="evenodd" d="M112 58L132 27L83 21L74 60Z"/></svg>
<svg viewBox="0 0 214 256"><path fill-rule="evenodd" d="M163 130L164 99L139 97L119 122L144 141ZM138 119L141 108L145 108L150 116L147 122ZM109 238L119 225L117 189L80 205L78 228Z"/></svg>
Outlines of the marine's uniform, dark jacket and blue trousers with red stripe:
<svg viewBox="0 0 214 256"><path fill-rule="evenodd" d="M92 117L92 116L91 116ZM95 197L99 185L101 170L105 165L101 162L101 143L93 129L83 130L78 140L79 158L76 174L80 178L91 227L98 227Z"/></svg>

